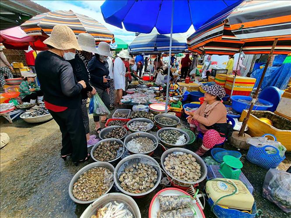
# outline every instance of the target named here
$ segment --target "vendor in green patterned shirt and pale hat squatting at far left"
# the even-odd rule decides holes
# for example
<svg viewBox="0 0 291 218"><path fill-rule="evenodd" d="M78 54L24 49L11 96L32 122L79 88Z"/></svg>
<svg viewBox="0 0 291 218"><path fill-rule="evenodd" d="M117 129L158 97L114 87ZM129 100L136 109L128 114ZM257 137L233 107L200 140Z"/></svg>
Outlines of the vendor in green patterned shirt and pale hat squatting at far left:
<svg viewBox="0 0 291 218"><path fill-rule="evenodd" d="M27 72L24 74L24 81L20 83L19 87L19 97L21 98L22 102L28 103L36 103L36 99L38 103L44 103L43 93L40 90L40 87L36 83L36 74L32 72Z"/></svg>

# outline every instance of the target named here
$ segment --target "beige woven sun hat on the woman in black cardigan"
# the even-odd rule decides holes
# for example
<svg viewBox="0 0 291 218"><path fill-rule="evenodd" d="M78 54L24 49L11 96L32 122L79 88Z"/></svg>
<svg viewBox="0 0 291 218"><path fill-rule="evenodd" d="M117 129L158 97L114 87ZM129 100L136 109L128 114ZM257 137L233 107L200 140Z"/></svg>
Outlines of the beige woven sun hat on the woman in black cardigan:
<svg viewBox="0 0 291 218"><path fill-rule="evenodd" d="M51 36L43 41L43 43L56 49L76 49L78 51L82 51L74 32L70 27L65 25L54 26Z"/></svg>

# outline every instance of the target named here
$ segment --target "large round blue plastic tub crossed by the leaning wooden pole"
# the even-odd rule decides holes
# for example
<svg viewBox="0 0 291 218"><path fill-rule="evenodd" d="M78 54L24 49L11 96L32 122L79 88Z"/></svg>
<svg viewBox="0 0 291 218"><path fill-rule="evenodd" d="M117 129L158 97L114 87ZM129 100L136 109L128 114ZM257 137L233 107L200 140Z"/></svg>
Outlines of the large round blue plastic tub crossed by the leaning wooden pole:
<svg viewBox="0 0 291 218"><path fill-rule="evenodd" d="M249 109L251 103L247 104L244 102L239 102L238 99L245 99L249 102L251 102L252 97L250 96L244 96L244 95L233 95L232 97L230 97L230 99L232 100L232 105L231 107L233 108L233 110L235 110L236 112L241 113L243 110L245 109ZM258 99L257 102L263 103L265 104L265 106L258 106L258 105L254 105L253 110L268 110L268 108L272 108L273 104L269 101L263 100L263 99Z"/></svg>

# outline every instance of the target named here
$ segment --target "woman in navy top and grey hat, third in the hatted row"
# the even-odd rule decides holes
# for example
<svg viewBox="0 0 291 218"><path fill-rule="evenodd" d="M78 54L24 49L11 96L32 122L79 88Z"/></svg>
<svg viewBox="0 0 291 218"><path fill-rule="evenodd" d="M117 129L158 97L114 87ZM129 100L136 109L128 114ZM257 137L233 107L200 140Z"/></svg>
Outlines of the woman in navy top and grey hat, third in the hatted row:
<svg viewBox="0 0 291 218"><path fill-rule="evenodd" d="M90 72L90 83L95 87L99 97L107 108L110 106L109 98L109 69L107 57L112 57L110 53L109 44L106 42L100 42L95 56L88 63L88 70ZM105 116L106 117L106 116ZM95 130L97 133L101 131L100 117L93 116L95 121ZM105 121L107 118L105 119Z"/></svg>

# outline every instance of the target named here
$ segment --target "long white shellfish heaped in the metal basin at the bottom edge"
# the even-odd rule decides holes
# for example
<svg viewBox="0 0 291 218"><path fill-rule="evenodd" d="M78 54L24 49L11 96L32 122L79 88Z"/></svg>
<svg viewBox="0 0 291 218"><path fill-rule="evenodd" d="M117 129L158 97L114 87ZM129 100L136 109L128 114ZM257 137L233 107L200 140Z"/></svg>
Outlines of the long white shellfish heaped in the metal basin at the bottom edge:
<svg viewBox="0 0 291 218"><path fill-rule="evenodd" d="M117 201L109 202L104 207L97 210L96 215L91 218L134 218L132 212L128 210L124 203Z"/></svg>

